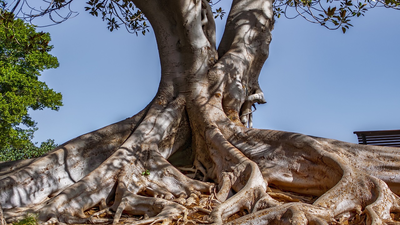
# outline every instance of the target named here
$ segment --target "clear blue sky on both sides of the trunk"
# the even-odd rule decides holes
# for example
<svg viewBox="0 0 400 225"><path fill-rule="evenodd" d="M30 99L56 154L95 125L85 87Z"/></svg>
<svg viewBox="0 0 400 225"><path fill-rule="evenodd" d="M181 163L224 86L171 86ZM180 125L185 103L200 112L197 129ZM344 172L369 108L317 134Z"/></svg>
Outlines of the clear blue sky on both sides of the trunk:
<svg viewBox="0 0 400 225"><path fill-rule="evenodd" d="M156 94L154 33L109 32L84 6L76 1L78 16L38 28L50 32L51 54L60 62L40 79L61 92L64 103L58 112L30 111L39 143L62 144L130 117ZM219 42L224 20L216 21ZM268 103L256 105L255 128L353 143L353 131L400 129L400 11L375 8L352 24L343 34L302 18L277 20L259 79Z"/></svg>

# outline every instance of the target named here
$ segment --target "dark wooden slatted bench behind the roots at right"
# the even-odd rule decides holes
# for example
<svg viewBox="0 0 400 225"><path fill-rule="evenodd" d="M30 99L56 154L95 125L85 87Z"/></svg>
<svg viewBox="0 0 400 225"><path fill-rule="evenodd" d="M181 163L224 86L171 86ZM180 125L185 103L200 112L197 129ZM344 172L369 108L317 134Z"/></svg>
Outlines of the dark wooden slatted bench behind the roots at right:
<svg viewBox="0 0 400 225"><path fill-rule="evenodd" d="M400 130L390 131L354 131L358 144L400 147Z"/></svg>

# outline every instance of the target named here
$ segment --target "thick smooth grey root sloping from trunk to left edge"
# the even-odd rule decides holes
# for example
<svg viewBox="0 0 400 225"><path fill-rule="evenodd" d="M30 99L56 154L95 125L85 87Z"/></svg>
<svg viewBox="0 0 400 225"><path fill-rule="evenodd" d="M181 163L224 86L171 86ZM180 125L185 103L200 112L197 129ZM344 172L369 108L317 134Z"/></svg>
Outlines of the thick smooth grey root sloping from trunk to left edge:
<svg viewBox="0 0 400 225"><path fill-rule="evenodd" d="M120 147L143 114L144 110L134 117L72 139L36 159L16 162L8 170L2 169L0 201L3 208L34 207L82 179ZM30 164L26 165L27 162Z"/></svg>

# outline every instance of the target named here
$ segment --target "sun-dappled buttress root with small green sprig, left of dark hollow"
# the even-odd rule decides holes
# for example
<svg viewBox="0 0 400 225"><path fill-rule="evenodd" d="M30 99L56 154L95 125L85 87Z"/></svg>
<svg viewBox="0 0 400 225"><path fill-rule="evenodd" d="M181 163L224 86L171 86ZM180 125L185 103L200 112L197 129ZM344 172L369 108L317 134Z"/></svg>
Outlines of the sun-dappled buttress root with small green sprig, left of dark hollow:
<svg viewBox="0 0 400 225"><path fill-rule="evenodd" d="M132 135L101 165L46 202L18 212L10 210L7 221L18 221L29 212L36 213L38 221L46 225L116 224L125 212L143 215L138 224L186 222L188 209L182 205L195 204L198 193L208 192L213 185L186 177L165 159L182 144L174 145L173 128L180 124L183 103L177 98L166 106L152 105ZM166 141L158 149L161 140ZM114 203L107 206L112 199ZM97 205L100 212L85 215L85 210ZM114 218L98 218L103 213Z"/></svg>

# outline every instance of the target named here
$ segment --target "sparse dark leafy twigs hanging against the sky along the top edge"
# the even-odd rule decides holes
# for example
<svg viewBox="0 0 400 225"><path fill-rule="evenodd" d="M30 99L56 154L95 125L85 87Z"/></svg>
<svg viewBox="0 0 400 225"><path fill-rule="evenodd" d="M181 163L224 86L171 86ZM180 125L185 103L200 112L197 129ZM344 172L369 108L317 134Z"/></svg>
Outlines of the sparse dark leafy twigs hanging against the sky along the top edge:
<svg viewBox="0 0 400 225"><path fill-rule="evenodd" d="M210 6L214 6L221 0L206 0ZM43 1L41 7L35 7L26 0L16 0L9 7L12 12L17 12L18 18L32 22L36 17L45 14L55 24L65 21L77 14L70 10L73 0ZM131 0L88 0L85 10L92 16L100 17L107 23L110 31L125 26L128 32L148 31L146 16L137 8ZM352 26L352 17L364 16L370 8L385 7L400 10L400 0L274 0L273 10L275 18L302 17L309 22L320 24L330 30L341 28L345 33ZM40 8L40 9L38 9ZM67 12L60 12L67 9ZM221 18L226 12L223 8L214 8L214 18Z"/></svg>

